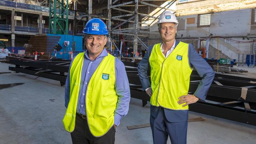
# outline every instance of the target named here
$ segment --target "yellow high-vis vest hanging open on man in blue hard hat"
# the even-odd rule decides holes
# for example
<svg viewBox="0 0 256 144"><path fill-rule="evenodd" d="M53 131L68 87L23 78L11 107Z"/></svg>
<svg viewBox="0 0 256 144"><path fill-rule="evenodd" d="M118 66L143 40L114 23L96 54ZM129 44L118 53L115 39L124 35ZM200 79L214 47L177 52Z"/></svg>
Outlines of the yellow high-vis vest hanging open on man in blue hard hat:
<svg viewBox="0 0 256 144"><path fill-rule="evenodd" d="M74 131L84 52L78 54L70 67L70 100L63 118L64 128ZM108 54L93 73L86 91L86 115L91 134L105 135L114 124L118 96L115 91L115 57Z"/></svg>

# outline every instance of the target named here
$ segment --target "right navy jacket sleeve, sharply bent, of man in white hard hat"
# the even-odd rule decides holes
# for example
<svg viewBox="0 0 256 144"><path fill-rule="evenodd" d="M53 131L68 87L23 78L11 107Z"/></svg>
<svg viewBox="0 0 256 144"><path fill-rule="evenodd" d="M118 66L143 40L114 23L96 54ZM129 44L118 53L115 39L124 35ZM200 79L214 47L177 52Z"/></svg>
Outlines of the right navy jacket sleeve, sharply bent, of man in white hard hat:
<svg viewBox="0 0 256 144"><path fill-rule="evenodd" d="M194 95L200 100L205 101L215 73L211 66L197 53L191 44L189 44L189 63L194 66L197 73L202 78Z"/></svg>

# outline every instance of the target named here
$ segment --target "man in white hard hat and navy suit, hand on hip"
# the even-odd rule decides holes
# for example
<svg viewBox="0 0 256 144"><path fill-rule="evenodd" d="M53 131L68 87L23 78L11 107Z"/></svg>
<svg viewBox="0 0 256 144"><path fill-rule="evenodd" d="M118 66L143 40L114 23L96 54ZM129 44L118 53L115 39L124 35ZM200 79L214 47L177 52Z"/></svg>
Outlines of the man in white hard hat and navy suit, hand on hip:
<svg viewBox="0 0 256 144"><path fill-rule="evenodd" d="M143 90L150 96L150 126L154 144L186 144L188 105L205 101L214 78L210 65L193 45L175 40L178 20L165 11L158 20L162 42L148 48L138 66ZM147 76L150 65L150 81ZM202 80L194 94L188 94L192 66Z"/></svg>

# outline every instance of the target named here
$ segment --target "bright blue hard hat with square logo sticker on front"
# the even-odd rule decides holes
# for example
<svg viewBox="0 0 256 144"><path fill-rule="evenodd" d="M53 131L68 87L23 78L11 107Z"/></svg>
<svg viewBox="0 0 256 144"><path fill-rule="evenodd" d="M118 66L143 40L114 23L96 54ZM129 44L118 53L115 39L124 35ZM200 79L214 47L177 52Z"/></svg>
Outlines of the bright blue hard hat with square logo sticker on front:
<svg viewBox="0 0 256 144"><path fill-rule="evenodd" d="M108 35L108 29L106 24L100 18L92 18L85 24L83 33L91 35Z"/></svg>

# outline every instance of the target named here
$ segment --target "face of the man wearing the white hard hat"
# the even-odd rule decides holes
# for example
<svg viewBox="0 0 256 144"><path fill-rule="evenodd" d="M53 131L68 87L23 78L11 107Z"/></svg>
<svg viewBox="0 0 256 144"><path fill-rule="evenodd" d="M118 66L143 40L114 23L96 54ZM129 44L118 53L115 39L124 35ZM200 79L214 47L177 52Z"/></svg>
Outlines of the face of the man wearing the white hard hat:
<svg viewBox="0 0 256 144"><path fill-rule="evenodd" d="M177 28L173 22L163 22L160 24L160 34L163 41L168 42L175 39Z"/></svg>

